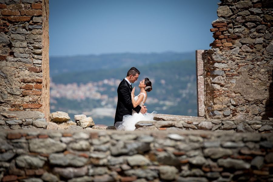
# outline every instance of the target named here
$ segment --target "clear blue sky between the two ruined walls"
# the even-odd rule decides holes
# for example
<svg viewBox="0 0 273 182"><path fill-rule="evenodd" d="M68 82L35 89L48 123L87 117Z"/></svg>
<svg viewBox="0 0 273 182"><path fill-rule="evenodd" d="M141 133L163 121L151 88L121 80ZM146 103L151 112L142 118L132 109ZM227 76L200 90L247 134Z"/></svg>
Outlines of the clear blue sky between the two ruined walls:
<svg viewBox="0 0 273 182"><path fill-rule="evenodd" d="M209 49L219 0L52 0L49 56Z"/></svg>

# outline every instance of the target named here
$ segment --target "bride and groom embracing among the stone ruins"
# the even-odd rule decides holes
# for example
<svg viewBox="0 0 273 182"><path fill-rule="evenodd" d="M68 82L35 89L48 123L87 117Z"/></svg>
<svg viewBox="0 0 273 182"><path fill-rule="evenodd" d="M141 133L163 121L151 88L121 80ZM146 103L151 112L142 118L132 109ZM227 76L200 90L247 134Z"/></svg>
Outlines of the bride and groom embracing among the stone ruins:
<svg viewBox="0 0 273 182"><path fill-rule="evenodd" d="M140 71L132 67L117 89L118 101L116 106L115 127L117 130L133 131L135 124L141 120L153 120L153 115L147 113L144 103L147 92L152 90L152 83L148 78L139 82L140 93L135 96L135 87L132 87L140 75Z"/></svg>

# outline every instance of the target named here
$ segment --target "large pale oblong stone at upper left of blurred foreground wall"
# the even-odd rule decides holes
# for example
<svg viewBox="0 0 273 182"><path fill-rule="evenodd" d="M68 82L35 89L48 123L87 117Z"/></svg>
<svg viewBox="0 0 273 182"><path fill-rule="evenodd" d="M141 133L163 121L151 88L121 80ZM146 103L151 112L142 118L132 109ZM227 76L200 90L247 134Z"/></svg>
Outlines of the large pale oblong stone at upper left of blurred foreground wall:
<svg viewBox="0 0 273 182"><path fill-rule="evenodd" d="M29 140L29 150L37 153L55 153L66 149L66 144L51 138Z"/></svg>

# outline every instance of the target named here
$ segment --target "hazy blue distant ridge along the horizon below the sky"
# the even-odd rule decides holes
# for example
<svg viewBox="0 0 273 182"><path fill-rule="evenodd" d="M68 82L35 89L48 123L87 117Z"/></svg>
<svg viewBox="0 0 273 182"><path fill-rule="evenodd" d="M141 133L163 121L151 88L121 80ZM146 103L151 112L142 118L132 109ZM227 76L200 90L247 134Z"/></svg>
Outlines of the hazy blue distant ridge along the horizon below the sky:
<svg viewBox="0 0 273 182"><path fill-rule="evenodd" d="M50 76L65 72L82 72L87 70L113 69L121 67L138 67L152 63L194 60L194 52L178 53L112 53L85 56L49 57Z"/></svg>

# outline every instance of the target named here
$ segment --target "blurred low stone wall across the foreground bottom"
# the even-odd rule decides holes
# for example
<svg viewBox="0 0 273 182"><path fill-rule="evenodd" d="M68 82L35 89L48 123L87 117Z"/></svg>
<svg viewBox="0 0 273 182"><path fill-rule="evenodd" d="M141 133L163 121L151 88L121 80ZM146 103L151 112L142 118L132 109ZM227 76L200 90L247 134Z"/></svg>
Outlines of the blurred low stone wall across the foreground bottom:
<svg viewBox="0 0 273 182"><path fill-rule="evenodd" d="M273 137L261 133L0 134L2 181L271 181Z"/></svg>

